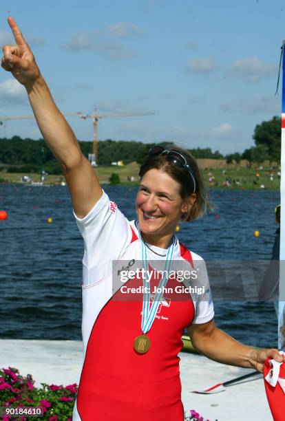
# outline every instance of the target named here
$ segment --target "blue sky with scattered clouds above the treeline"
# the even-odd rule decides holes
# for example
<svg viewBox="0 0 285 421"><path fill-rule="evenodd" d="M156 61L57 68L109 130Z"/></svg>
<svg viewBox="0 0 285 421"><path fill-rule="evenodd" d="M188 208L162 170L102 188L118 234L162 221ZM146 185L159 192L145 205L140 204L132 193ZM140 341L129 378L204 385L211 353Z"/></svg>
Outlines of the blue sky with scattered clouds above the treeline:
<svg viewBox="0 0 285 421"><path fill-rule="evenodd" d="M156 113L105 118L100 140L173 140L231 153L251 147L255 125L281 112L282 1L2 0L2 45L12 41L9 14L63 113ZM27 114L25 90L1 70L0 116ZM92 140L91 120L68 121L79 140ZM0 137L14 135L40 136L33 120L0 127Z"/></svg>

